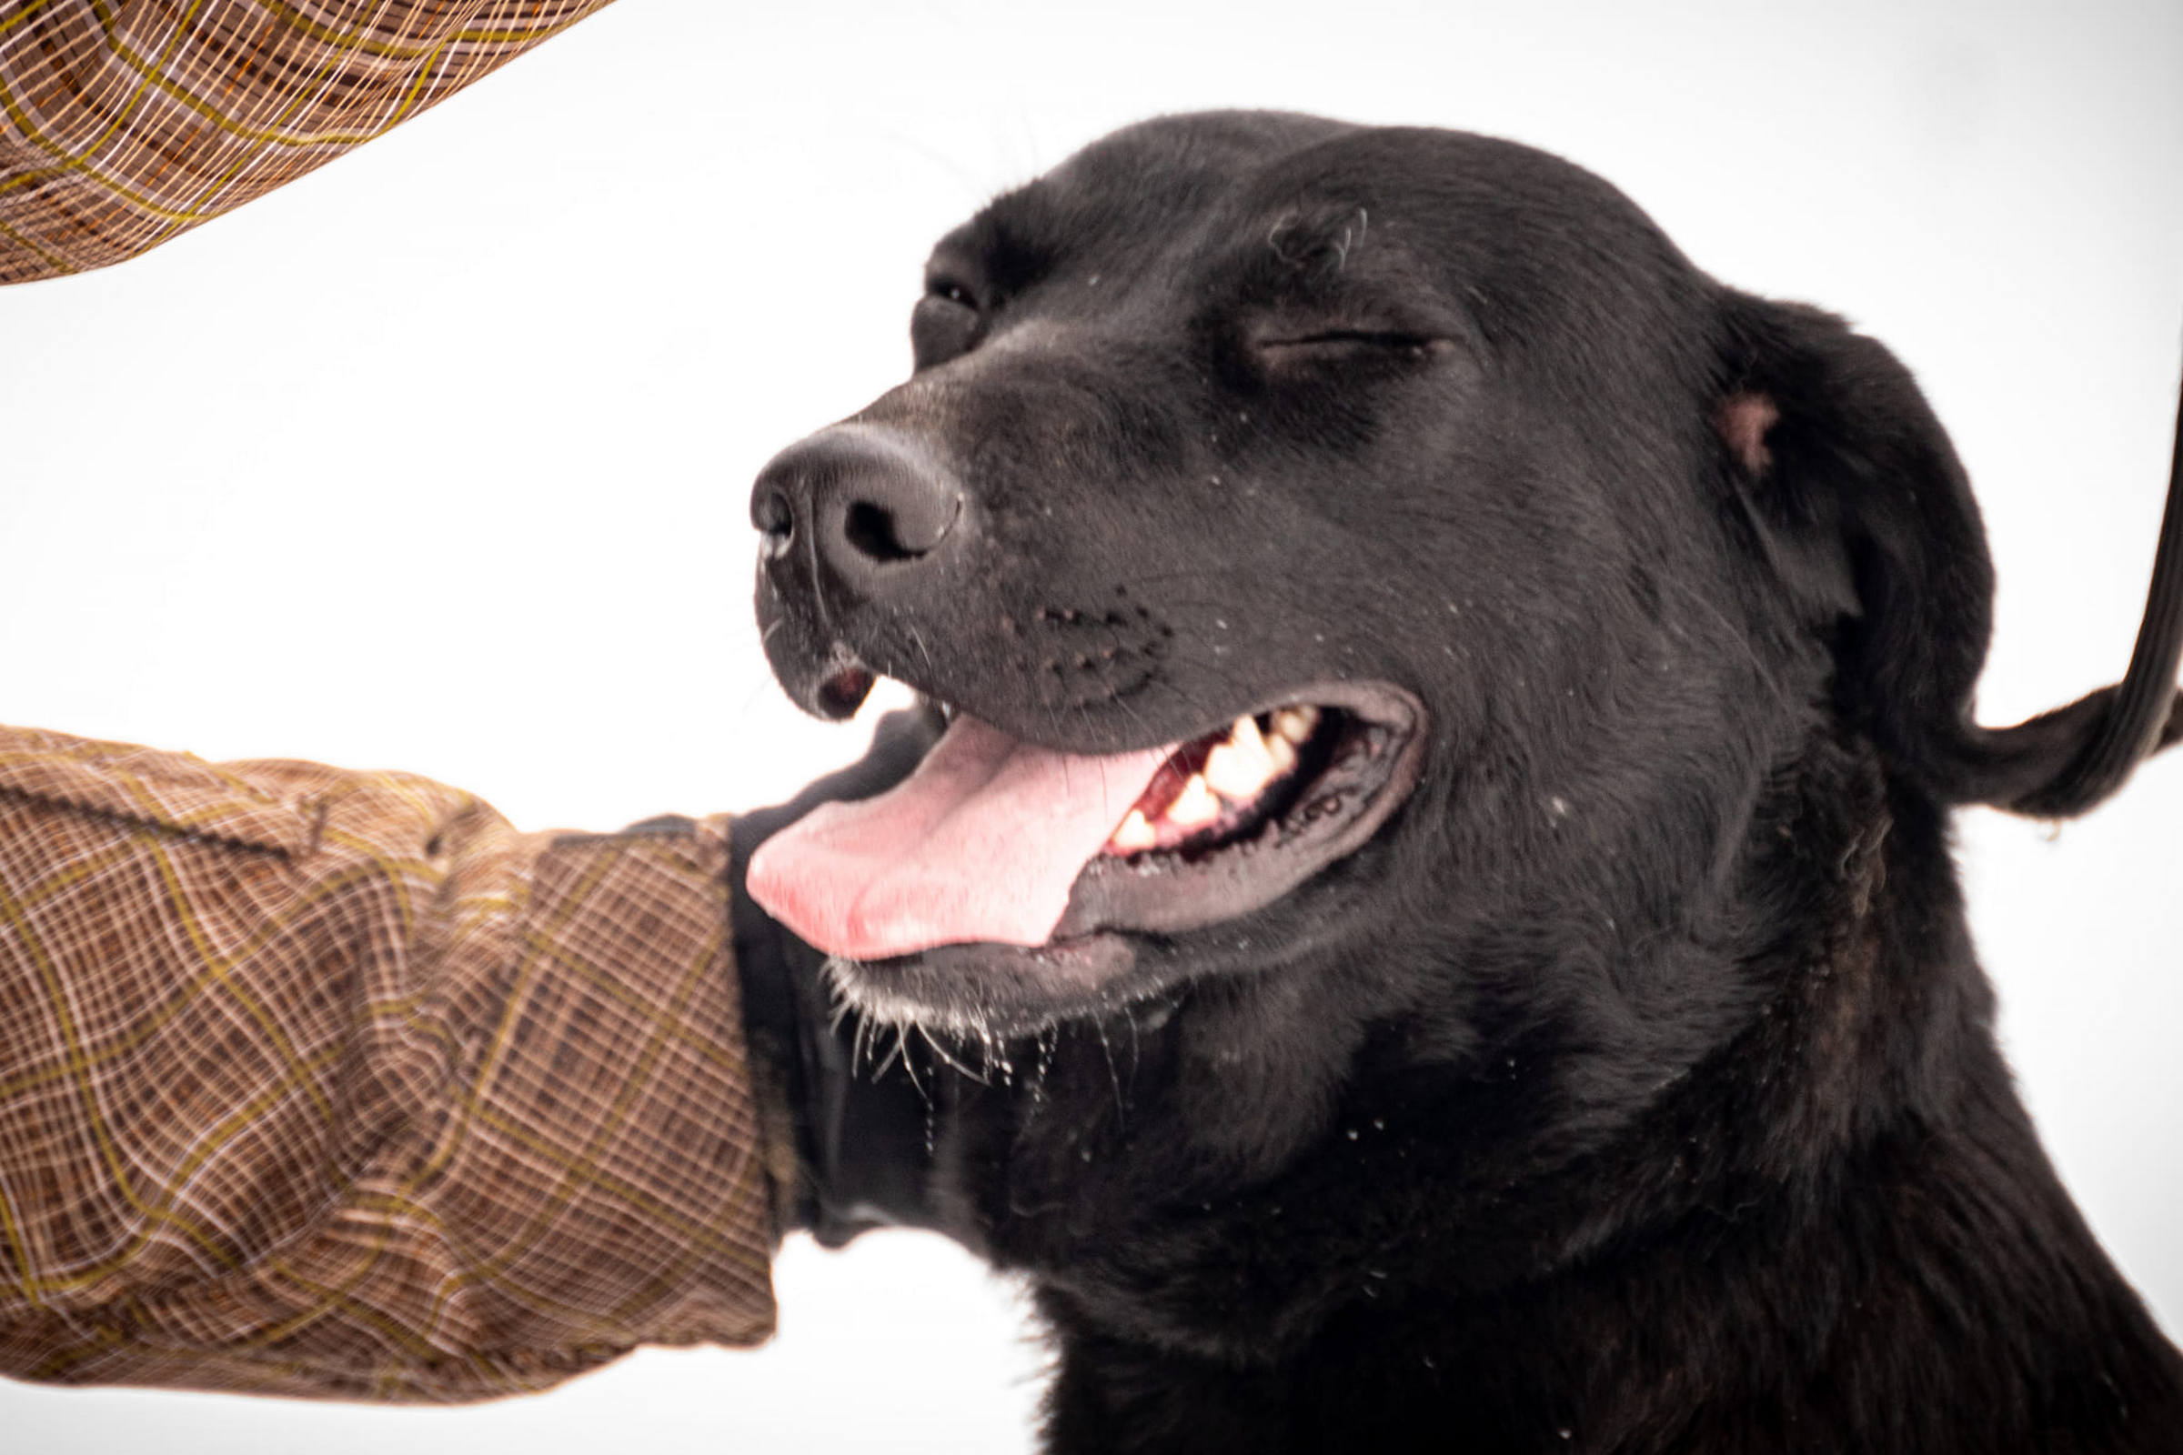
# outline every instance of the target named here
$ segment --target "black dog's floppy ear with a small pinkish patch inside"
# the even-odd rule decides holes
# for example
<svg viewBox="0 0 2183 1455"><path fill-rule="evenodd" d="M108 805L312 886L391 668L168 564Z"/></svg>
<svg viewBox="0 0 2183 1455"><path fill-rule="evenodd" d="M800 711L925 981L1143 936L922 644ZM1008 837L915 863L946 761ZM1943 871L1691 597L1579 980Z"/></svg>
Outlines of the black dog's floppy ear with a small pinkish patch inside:
<svg viewBox="0 0 2183 1455"><path fill-rule="evenodd" d="M2063 818L2183 737L2172 659L2150 685L2133 663L2124 687L2148 700L2131 711L2102 687L2013 729L1978 726L1993 563L1910 371L1814 308L1727 292L1722 325L1711 425L1731 486L1781 589L1834 639L1842 711L1899 777L1943 803Z"/></svg>

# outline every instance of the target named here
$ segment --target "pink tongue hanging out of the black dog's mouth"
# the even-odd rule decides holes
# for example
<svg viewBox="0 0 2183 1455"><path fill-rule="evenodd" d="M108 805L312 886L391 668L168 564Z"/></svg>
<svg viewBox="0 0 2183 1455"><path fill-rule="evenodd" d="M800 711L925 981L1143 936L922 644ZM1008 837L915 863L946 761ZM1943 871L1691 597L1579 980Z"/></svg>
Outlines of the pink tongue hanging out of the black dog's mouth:
<svg viewBox="0 0 2183 1455"><path fill-rule="evenodd" d="M849 960L1043 945L1076 873L1172 750L1050 753L958 716L893 792L821 805L766 840L751 899Z"/></svg>

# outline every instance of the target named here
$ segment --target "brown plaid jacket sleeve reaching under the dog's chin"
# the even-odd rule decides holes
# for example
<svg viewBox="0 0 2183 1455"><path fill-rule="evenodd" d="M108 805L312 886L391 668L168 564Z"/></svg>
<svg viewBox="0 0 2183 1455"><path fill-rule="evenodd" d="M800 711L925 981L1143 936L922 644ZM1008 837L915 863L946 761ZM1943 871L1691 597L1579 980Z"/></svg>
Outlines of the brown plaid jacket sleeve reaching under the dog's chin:
<svg viewBox="0 0 2183 1455"><path fill-rule="evenodd" d="M0 729L0 1372L463 1400L764 1339L725 875L723 820Z"/></svg>

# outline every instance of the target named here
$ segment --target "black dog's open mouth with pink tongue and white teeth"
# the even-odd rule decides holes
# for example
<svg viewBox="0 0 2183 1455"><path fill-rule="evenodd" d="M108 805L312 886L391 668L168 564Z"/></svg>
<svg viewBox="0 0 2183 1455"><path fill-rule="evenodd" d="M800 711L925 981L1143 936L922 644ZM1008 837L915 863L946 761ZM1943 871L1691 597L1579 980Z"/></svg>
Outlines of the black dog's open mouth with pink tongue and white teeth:
<svg viewBox="0 0 2183 1455"><path fill-rule="evenodd" d="M1131 940L1236 921L1369 842L1425 737L1419 700L1380 683L1299 687L1109 755L943 711L906 781L819 807L749 864L768 914L873 977L1006 966L1089 990Z"/></svg>

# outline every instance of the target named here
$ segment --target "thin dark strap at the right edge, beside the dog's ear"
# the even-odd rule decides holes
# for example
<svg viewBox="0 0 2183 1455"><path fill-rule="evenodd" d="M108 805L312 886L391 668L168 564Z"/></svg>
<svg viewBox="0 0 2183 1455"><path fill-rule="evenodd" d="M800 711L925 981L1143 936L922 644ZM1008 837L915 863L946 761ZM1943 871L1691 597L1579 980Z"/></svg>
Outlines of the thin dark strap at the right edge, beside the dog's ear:
<svg viewBox="0 0 2183 1455"><path fill-rule="evenodd" d="M2002 807L2039 818L2072 818L2122 787L2146 757L2183 737L2183 401L2176 404L2174 454L2168 465L2168 506L2152 554L2146 620L2137 628L2131 670L2104 689L2104 711L2087 724L2083 746L2061 772ZM2096 694L2102 696L2102 694Z"/></svg>

